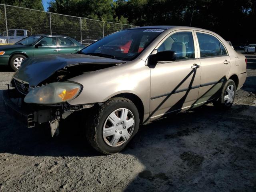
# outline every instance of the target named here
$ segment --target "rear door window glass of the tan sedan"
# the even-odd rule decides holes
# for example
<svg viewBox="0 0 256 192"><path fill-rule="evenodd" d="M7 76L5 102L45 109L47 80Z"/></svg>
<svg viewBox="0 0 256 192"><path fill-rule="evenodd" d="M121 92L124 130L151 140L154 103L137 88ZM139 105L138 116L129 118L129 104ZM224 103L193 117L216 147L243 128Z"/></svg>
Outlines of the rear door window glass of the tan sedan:
<svg viewBox="0 0 256 192"><path fill-rule="evenodd" d="M222 51L220 49L221 43L219 42L219 40L217 38L215 38L212 35L198 33L198 32L196 32L196 36L198 38L201 58L222 55L222 53L221 53ZM223 46L223 48L224 48L224 46ZM225 50L225 48L224 48L224 50ZM226 50L225 50L225 52L224 52L224 50L223 50L223 54L226 52Z"/></svg>

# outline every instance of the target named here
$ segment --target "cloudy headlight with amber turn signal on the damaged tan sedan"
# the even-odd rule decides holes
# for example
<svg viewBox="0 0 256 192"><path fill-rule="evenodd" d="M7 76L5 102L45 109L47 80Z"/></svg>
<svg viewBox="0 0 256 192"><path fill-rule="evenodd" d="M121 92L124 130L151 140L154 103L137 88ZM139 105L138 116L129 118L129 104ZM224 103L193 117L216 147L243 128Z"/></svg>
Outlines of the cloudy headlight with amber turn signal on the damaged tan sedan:
<svg viewBox="0 0 256 192"><path fill-rule="evenodd" d="M26 103L57 104L78 96L82 85L73 82L56 82L35 88L24 98Z"/></svg>

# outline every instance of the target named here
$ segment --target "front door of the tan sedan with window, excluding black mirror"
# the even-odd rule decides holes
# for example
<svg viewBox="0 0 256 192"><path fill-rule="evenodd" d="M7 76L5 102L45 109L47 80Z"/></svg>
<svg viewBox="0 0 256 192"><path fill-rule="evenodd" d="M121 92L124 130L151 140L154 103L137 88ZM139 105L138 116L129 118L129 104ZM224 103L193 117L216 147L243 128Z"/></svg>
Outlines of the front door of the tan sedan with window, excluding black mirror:
<svg viewBox="0 0 256 192"><path fill-rule="evenodd" d="M174 62L161 61L150 66L150 119L156 120L170 112L180 112L192 106L200 86L200 60L195 52L192 30L172 32L153 53L175 51ZM196 66L196 67L195 67Z"/></svg>

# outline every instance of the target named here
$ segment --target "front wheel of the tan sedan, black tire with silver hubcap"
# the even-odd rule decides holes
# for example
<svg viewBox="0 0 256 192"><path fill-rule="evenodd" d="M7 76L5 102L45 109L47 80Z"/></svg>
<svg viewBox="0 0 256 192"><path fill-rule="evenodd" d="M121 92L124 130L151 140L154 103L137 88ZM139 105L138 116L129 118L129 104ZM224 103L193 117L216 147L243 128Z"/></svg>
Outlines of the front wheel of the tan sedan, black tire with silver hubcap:
<svg viewBox="0 0 256 192"><path fill-rule="evenodd" d="M125 112L127 116L122 119ZM139 122L139 113L132 101L111 98L92 109L86 122L86 138L102 154L120 152L138 132Z"/></svg>

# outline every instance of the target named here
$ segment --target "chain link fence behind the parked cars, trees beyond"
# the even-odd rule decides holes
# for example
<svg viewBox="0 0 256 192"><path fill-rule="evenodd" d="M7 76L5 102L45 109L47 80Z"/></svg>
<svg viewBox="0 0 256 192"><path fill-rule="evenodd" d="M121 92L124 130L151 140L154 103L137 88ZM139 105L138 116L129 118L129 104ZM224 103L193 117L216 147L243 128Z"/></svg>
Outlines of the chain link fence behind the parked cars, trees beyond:
<svg viewBox="0 0 256 192"><path fill-rule="evenodd" d="M0 4L0 43L15 43L32 34L70 36L82 42L133 27Z"/></svg>

